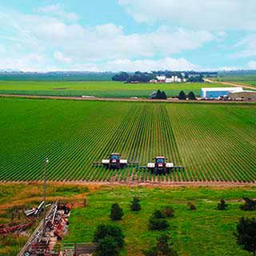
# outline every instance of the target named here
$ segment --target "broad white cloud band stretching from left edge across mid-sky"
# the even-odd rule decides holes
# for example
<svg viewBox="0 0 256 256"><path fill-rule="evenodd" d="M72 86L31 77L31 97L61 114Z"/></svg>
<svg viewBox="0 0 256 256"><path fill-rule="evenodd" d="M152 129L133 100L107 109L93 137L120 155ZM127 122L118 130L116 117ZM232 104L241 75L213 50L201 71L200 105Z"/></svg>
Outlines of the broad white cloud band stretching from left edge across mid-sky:
<svg viewBox="0 0 256 256"><path fill-rule="evenodd" d="M57 7L49 8L54 10ZM214 35L204 30L174 30L159 26L158 30L150 33L125 34L122 26L112 23L82 26L69 24L57 17L20 13L0 13L0 26L14 30L17 41L27 49L41 54L60 51L72 62L164 58L182 50L197 49L214 40Z"/></svg>

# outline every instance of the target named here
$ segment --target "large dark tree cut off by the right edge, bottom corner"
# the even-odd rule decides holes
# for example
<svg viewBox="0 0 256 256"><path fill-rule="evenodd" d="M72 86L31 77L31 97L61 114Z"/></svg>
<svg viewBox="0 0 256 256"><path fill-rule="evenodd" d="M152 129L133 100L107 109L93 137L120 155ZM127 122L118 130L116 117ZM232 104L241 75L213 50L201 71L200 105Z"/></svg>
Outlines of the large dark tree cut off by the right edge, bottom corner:
<svg viewBox="0 0 256 256"><path fill-rule="evenodd" d="M256 218L240 218L234 235L238 245L256 255Z"/></svg>

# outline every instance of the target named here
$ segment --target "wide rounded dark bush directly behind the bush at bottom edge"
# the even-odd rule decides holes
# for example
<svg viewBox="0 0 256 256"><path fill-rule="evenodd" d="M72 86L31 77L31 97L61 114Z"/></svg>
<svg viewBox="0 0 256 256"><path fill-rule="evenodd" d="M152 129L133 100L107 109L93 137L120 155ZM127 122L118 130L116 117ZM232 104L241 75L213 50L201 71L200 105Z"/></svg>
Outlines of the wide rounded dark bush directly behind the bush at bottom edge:
<svg viewBox="0 0 256 256"><path fill-rule="evenodd" d="M93 241L99 242L99 240L106 238L107 236L114 238L114 241L117 242L118 247L121 248L123 246L125 235L123 234L122 230L118 226L109 224L100 224L97 226L94 232Z"/></svg>

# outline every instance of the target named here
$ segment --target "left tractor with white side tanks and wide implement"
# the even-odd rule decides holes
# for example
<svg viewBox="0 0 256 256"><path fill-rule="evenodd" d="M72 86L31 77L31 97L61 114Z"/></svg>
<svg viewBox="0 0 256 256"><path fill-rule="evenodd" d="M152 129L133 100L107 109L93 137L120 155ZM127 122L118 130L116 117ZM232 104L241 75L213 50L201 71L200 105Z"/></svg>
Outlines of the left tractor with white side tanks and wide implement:
<svg viewBox="0 0 256 256"><path fill-rule="evenodd" d="M102 159L102 162L93 162L93 166L104 166L106 169L123 169L128 166L138 166L138 162L129 162L127 159L122 159L121 154L112 153L108 159Z"/></svg>

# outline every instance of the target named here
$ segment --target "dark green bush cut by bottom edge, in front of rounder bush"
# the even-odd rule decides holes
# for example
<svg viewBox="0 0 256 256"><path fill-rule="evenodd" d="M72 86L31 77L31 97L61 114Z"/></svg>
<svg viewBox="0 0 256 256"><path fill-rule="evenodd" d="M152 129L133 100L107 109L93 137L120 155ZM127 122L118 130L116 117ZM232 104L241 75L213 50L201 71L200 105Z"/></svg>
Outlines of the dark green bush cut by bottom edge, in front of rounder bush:
<svg viewBox="0 0 256 256"><path fill-rule="evenodd" d="M96 249L97 256L117 256L118 255L118 243L113 237L106 236L98 241Z"/></svg>

